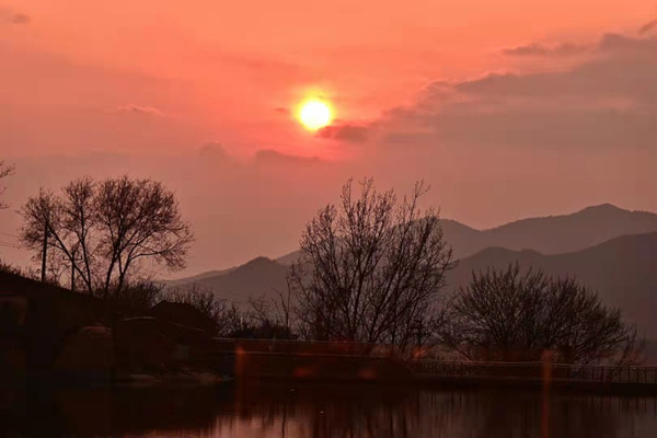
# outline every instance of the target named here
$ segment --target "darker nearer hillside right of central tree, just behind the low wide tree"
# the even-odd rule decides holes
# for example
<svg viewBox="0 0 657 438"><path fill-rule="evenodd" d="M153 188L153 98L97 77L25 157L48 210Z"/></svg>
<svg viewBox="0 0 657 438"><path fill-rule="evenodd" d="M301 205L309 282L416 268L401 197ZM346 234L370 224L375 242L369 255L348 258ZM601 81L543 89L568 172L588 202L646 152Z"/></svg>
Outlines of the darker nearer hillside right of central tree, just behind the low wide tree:
<svg viewBox="0 0 657 438"><path fill-rule="evenodd" d="M448 276L449 289L464 286L473 270L521 266L552 275L574 275L597 289L606 303L623 309L652 338L657 338L657 233L625 235L583 251L542 255L534 251L484 250L462 260Z"/></svg>

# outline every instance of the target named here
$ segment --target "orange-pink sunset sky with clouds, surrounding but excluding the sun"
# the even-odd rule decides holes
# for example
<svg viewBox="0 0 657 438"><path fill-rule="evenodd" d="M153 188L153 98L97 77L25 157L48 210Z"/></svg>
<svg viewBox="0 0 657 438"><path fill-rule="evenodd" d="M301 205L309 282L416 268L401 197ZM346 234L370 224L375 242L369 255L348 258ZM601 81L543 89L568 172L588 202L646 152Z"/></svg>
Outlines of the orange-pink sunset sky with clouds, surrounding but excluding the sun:
<svg viewBox="0 0 657 438"><path fill-rule="evenodd" d="M3 241L85 174L173 188L186 273L295 250L349 176L475 228L657 211L655 0L0 0L0 79Z"/></svg>

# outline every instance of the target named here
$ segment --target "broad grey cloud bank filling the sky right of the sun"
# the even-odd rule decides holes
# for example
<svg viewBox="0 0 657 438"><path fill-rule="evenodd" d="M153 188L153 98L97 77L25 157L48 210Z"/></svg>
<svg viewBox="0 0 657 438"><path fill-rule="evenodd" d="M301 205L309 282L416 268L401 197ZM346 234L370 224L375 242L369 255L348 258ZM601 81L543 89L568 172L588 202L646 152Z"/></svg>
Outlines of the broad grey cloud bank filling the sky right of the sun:
<svg viewBox="0 0 657 438"><path fill-rule="evenodd" d="M589 47L592 57L561 70L437 81L416 104L387 113L380 139L400 147L652 150L657 38L607 34Z"/></svg>

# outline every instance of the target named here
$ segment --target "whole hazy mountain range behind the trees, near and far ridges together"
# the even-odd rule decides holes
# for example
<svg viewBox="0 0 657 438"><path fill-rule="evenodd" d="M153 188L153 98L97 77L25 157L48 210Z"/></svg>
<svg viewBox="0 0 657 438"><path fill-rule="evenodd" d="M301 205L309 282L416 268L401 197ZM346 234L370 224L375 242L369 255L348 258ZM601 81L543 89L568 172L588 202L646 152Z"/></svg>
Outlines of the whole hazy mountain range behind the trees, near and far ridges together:
<svg viewBox="0 0 657 438"><path fill-rule="evenodd" d="M606 303L623 309L629 321L657 338L657 215L612 205L572 215L523 219L475 230L443 219L445 237L459 260L448 289L468 284L473 270L518 262L551 275L573 275L597 289ZM249 297L273 297L285 290L290 253L275 261L258 257L235 268L174 281L211 288L218 297L245 304Z"/></svg>

